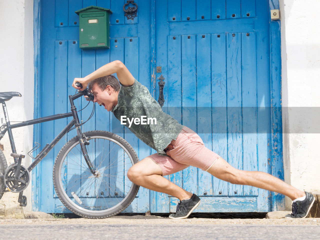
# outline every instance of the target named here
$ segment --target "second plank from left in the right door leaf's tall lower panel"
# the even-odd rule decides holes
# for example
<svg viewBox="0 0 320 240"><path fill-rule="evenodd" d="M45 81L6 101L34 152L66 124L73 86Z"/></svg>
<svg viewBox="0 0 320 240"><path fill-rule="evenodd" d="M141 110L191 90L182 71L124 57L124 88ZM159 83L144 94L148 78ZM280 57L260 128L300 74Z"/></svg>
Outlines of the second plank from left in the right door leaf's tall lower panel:
<svg viewBox="0 0 320 240"><path fill-rule="evenodd" d="M196 123L196 35L181 36L182 124L197 131ZM198 194L197 168L183 170L183 188Z"/></svg>

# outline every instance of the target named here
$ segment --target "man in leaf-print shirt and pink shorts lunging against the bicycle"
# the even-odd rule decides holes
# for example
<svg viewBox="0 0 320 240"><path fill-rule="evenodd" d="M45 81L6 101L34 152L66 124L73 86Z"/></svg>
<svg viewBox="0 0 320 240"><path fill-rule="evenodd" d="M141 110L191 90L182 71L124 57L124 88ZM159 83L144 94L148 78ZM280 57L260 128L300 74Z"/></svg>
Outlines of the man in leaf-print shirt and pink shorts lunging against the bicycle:
<svg viewBox="0 0 320 240"><path fill-rule="evenodd" d="M114 76L110 76L114 73L121 86ZM76 82L80 82L83 87L76 87ZM205 148L195 132L165 114L148 89L134 79L121 61L110 62L84 78L75 78L72 86L83 90L88 84L94 102L112 111L117 119L121 120L124 115L129 119L141 116L157 119L157 124L132 124L129 128L140 140L156 149L157 153L134 164L127 175L137 185L177 197L180 203L177 212L171 214L170 218L187 218L201 201L195 194L163 177L189 165L232 184L250 185L290 197L293 200L292 214L286 215L286 218L305 218L308 215L315 201L314 196L268 173L242 171L232 167L222 157Z"/></svg>

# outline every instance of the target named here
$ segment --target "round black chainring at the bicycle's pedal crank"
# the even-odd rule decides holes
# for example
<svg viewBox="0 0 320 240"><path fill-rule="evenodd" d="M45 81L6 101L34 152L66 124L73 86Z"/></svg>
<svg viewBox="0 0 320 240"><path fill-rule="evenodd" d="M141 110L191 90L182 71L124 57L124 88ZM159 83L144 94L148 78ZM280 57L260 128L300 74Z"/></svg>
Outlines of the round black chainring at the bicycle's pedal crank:
<svg viewBox="0 0 320 240"><path fill-rule="evenodd" d="M8 166L4 173L4 184L10 191L20 193L28 187L30 182L30 173L23 165L20 167L20 174L18 177L16 176L16 171L16 163Z"/></svg>

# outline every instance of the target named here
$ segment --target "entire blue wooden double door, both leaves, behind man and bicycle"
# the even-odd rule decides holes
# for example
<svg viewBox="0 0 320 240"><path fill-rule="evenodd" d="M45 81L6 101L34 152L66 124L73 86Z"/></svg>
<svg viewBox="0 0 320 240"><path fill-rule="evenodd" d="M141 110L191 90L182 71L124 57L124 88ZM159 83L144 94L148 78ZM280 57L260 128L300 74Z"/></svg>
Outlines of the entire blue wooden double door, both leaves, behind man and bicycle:
<svg viewBox="0 0 320 240"><path fill-rule="evenodd" d="M156 99L157 78L164 76L163 110L198 132L207 148L238 169L271 173L267 1L136 0L138 16L133 21L124 17L125 0L38 1L42 7L42 33L37 116L69 112L67 96L75 93L71 87L73 78L121 60ZM110 49L79 48L79 17L74 11L90 5L113 12ZM156 73L156 66L162 67L161 73ZM85 104L82 100L76 107ZM91 111L92 108L85 108L82 120L87 120ZM45 146L68 121L41 124L35 140ZM94 129L121 135L140 159L155 152L99 106L83 131ZM61 147L75 135L76 132L69 132L33 170L34 210L68 212L55 194L52 167ZM199 212L270 209L268 191L228 184L194 167L168 178L201 196ZM174 212L175 206L172 196L140 188L126 211Z"/></svg>

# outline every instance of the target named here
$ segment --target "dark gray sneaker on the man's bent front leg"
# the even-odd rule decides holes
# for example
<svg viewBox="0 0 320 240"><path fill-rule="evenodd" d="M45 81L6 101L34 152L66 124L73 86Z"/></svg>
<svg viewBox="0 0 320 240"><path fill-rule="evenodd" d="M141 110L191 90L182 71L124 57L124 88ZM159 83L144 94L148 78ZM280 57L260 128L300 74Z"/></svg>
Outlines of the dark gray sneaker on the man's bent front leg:
<svg viewBox="0 0 320 240"><path fill-rule="evenodd" d="M177 212L169 215L171 219L184 219L188 218L190 213L195 210L195 208L201 202L200 198L196 194L192 194L190 199L181 200L177 205Z"/></svg>

